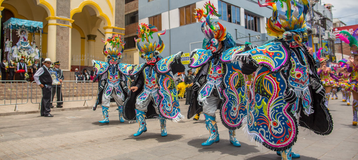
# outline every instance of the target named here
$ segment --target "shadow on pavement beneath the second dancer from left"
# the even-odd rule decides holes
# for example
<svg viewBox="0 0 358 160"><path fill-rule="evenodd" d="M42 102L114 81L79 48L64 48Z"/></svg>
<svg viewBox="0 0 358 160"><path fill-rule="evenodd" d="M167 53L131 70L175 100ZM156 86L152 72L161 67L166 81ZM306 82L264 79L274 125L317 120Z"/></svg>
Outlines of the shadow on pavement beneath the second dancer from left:
<svg viewBox="0 0 358 160"><path fill-rule="evenodd" d="M173 134L168 134L168 136L162 137L160 135L160 131L158 133L148 133L148 132L143 132L141 135L139 136L133 136L130 135L128 138L124 139L124 140L136 140L136 141L144 141L144 140L149 140L149 139L155 139L156 141L160 142L170 142L170 141L175 141L175 140L179 140L183 137L183 135L173 135Z"/></svg>

